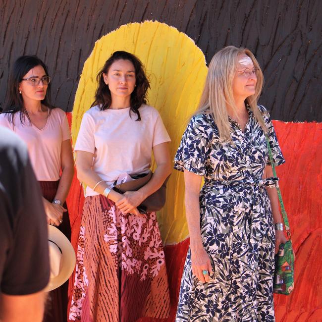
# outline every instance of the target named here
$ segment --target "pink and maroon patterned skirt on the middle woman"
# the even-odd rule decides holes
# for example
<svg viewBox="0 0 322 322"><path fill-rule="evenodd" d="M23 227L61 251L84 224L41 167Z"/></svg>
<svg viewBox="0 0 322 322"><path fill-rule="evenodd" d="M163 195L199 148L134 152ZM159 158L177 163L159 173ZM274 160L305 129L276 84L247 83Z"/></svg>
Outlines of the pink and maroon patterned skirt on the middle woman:
<svg viewBox="0 0 322 322"><path fill-rule="evenodd" d="M69 319L134 322L169 312L156 214L123 215L102 195L85 198Z"/></svg>

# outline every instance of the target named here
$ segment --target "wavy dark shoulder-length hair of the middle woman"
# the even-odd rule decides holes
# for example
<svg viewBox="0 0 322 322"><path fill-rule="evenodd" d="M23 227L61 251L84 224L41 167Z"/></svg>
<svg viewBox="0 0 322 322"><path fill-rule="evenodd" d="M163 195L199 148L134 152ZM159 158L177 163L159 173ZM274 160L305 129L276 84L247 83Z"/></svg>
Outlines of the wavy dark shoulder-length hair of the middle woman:
<svg viewBox="0 0 322 322"><path fill-rule="evenodd" d="M147 91L150 88L150 83L145 75L144 67L142 62L138 57L136 57L133 54L123 52L123 51L117 51L114 52L105 62L104 67L99 71L97 75L97 82L99 84L96 93L95 93L95 101L93 102L91 107L94 107L96 105L100 106L101 110L108 109L112 103L112 97L110 94L110 90L108 88L108 85L105 84L103 73L107 74L109 67L113 62L119 59L129 60L132 62L134 69L135 69L135 87L134 91L131 93L131 108L130 108L130 116L131 111L137 114L138 118L137 121L141 120L139 107L142 104L147 103Z"/></svg>

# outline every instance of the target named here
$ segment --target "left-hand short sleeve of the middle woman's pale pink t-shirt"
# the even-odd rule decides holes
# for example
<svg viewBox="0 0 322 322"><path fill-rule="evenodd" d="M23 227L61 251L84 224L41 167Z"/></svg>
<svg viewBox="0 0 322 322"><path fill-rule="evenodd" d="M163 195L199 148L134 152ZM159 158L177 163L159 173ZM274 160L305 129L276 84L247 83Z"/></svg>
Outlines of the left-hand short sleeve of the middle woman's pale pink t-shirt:
<svg viewBox="0 0 322 322"><path fill-rule="evenodd" d="M85 113L79 128L74 151L95 153L95 122L93 116Z"/></svg>

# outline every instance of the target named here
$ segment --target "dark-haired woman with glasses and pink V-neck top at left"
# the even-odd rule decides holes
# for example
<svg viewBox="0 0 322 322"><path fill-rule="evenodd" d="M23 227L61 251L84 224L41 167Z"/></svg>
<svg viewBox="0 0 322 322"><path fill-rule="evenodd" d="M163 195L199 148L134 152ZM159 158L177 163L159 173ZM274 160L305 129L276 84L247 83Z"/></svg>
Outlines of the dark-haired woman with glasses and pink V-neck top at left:
<svg viewBox="0 0 322 322"><path fill-rule="evenodd" d="M65 199L74 173L71 136L65 112L51 105L50 80L46 65L37 56L19 57L9 76L0 125L27 144L47 222L70 240ZM50 293L44 321L67 321L67 289L68 281Z"/></svg>

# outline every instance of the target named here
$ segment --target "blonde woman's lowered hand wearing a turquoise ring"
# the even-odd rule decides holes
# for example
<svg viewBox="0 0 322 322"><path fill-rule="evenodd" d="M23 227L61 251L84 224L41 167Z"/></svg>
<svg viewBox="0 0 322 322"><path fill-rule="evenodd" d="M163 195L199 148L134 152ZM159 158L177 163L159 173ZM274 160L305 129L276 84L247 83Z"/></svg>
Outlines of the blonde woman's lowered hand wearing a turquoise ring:
<svg viewBox="0 0 322 322"><path fill-rule="evenodd" d="M191 248L192 273L203 283L209 282L209 275L213 273L212 264L208 253L202 245ZM208 274L203 274L203 270L208 270Z"/></svg>

